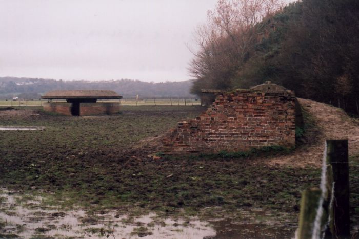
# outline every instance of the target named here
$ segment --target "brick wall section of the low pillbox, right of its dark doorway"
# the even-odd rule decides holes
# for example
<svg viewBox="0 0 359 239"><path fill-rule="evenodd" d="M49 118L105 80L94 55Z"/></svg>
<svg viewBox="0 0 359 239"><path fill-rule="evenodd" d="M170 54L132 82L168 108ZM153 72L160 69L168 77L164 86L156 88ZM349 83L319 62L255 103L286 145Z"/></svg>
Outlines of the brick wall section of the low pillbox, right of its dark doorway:
<svg viewBox="0 0 359 239"><path fill-rule="evenodd" d="M116 114L119 106L119 103L109 102L80 103L80 115Z"/></svg>

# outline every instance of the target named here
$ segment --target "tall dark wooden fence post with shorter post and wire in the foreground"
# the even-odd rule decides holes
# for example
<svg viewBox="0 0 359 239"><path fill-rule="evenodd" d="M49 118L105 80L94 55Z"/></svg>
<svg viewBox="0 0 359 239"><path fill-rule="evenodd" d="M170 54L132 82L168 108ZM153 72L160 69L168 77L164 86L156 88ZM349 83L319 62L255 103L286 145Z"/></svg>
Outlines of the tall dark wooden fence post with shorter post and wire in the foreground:
<svg viewBox="0 0 359 239"><path fill-rule="evenodd" d="M302 194L297 238L349 239L348 140L326 141L322 170L321 190Z"/></svg>

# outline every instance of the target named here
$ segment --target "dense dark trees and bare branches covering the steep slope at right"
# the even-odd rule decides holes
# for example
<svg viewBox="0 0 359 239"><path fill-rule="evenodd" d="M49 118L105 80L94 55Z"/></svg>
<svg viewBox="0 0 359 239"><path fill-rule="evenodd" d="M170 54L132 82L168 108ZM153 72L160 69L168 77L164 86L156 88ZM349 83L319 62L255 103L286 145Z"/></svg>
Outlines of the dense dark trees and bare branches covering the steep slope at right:
<svg viewBox="0 0 359 239"><path fill-rule="evenodd" d="M218 1L206 27L219 28L213 15L222 18L248 11L238 3L266 6L273 1ZM359 114L359 1L303 0L254 15L260 21L249 25L251 30L233 25L234 37L215 35L210 42L203 41L211 35L208 32L198 37L203 47L190 65L196 77L192 93L203 88L248 88L270 80L294 90L297 97ZM234 47L244 42L246 48Z"/></svg>

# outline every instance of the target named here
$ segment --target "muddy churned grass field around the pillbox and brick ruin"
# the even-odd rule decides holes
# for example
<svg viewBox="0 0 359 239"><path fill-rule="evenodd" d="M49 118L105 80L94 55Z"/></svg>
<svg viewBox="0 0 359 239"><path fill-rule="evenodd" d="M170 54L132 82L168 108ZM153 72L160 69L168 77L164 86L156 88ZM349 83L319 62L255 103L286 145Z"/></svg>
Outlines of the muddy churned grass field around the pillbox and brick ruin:
<svg viewBox="0 0 359 239"><path fill-rule="evenodd" d="M42 210L55 207L64 215L83 211L75 216L76 220L110 214L118 215L121 221L130 215L134 221L117 222L122 227L134 225L123 233L124 238L151 238L156 233L155 225L165 220L180 220L181 225L206 221L208 225L198 227L207 230L208 234L199 234L207 238L293 237L301 192L318 186L320 168L315 164L298 167L265 162L293 158L298 151L305 151L305 146L296 151L255 152L241 158L226 154L160 159L148 156L169 128L203 110L196 106L138 106L123 107L118 115L87 117L49 115L40 108L1 110L0 127L41 130L0 131L0 187L4 198L0 211L19 214L9 206L10 191L19 198L13 207L27 208L26 200L39 197ZM350 160L352 225L357 230L359 157L352 155ZM53 211L44 213L51 215ZM146 221L150 226L137 225L138 218L153 213L155 219ZM101 225L107 229L106 224ZM46 234L49 230L31 230L37 236L34 238L42 234L43 238L64 238ZM94 229L92 236L108 235L98 230ZM141 234L143 230L148 233ZM21 233L16 224L10 227L0 218L0 238L5 234L24 235Z"/></svg>

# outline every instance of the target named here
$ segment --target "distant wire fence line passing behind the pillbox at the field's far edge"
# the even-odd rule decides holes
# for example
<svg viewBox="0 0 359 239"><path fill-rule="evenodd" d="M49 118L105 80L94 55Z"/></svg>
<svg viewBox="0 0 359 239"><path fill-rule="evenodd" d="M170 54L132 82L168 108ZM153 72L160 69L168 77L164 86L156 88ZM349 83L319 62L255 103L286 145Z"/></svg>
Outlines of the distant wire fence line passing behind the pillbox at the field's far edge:
<svg viewBox="0 0 359 239"><path fill-rule="evenodd" d="M0 99L0 107L13 107L13 106L43 106L48 102L47 99ZM66 102L65 100L52 100L51 102ZM97 102L120 102L124 106L200 106L200 99L179 99L179 98L122 98L122 99L99 99Z"/></svg>

